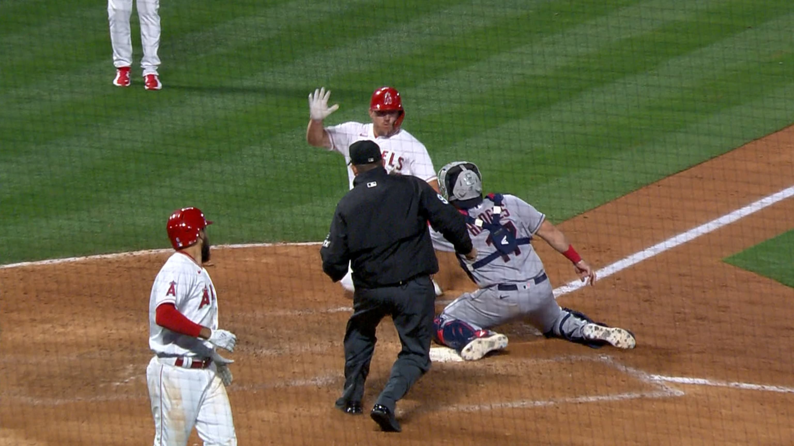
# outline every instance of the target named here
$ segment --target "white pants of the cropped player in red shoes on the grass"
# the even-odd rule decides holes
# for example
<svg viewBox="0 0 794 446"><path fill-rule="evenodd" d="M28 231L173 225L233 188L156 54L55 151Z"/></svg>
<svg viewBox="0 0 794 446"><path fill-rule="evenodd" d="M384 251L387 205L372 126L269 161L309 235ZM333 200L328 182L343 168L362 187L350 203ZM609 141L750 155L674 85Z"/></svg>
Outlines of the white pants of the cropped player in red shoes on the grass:
<svg viewBox="0 0 794 446"><path fill-rule="evenodd" d="M138 18L141 20L141 59L143 75L156 75L160 67L160 0L136 0ZM133 64L133 40L129 30L129 16L133 13L133 0L107 0L107 18L110 22L110 43L113 44L115 67Z"/></svg>

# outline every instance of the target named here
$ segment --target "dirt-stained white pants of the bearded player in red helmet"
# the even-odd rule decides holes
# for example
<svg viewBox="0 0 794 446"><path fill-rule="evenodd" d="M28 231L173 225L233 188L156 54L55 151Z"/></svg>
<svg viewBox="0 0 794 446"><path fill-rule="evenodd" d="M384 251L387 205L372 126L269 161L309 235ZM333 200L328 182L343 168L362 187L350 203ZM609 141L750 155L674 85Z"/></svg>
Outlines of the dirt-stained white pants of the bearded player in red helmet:
<svg viewBox="0 0 794 446"><path fill-rule="evenodd" d="M146 383L154 446L185 446L194 426L205 446L237 446L229 396L214 363L190 369L155 356L146 367Z"/></svg>

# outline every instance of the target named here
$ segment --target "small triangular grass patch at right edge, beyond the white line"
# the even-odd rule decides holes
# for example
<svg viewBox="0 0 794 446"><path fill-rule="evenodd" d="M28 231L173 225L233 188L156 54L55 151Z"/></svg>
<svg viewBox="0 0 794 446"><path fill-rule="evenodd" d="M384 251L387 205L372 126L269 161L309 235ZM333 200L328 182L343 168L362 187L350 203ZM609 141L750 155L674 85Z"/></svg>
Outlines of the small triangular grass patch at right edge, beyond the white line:
<svg viewBox="0 0 794 446"><path fill-rule="evenodd" d="M794 229L724 260L794 288Z"/></svg>

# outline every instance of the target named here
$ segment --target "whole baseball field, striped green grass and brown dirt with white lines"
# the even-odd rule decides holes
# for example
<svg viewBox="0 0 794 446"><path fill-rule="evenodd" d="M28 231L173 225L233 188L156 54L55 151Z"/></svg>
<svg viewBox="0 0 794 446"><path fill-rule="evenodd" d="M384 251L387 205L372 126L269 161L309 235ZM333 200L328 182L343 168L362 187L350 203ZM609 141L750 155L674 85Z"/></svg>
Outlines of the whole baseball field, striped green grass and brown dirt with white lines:
<svg viewBox="0 0 794 446"><path fill-rule="evenodd" d="M314 0L160 5L164 88L111 84L106 5L0 2L0 444L150 444L148 298L164 225L210 227L240 444L794 444L794 3ZM558 224L562 306L631 351L500 328L434 348L403 433L333 409L351 301L319 245L347 190L306 96L367 121L400 90L436 168ZM88 256L88 257L87 257ZM449 256L437 309L472 283ZM388 321L365 405L399 350ZM188 444L200 444L191 436Z"/></svg>

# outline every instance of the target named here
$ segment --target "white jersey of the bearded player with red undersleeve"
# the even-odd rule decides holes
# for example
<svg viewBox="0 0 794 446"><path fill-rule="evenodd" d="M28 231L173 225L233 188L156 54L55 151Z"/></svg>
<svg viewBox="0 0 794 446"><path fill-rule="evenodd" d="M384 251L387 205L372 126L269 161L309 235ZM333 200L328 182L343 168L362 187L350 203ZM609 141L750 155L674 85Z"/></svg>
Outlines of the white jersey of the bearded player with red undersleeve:
<svg viewBox="0 0 794 446"><path fill-rule="evenodd" d="M210 356L214 346L207 340L172 332L157 325L157 306L172 303L191 321L218 329L218 300L206 269L191 256L175 252L165 262L152 285L149 298L149 348L164 356Z"/></svg>

